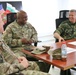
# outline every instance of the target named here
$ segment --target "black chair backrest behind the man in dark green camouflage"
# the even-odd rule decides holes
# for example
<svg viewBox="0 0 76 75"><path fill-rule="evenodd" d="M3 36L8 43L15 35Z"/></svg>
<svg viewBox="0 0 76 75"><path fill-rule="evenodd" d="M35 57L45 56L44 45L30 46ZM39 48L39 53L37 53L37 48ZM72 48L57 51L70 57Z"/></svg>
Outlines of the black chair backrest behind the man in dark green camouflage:
<svg viewBox="0 0 76 75"><path fill-rule="evenodd" d="M67 20L69 17L69 10L61 10L59 11L59 18L55 20L56 28L61 24L61 22ZM56 42L58 42L58 39L56 39Z"/></svg>

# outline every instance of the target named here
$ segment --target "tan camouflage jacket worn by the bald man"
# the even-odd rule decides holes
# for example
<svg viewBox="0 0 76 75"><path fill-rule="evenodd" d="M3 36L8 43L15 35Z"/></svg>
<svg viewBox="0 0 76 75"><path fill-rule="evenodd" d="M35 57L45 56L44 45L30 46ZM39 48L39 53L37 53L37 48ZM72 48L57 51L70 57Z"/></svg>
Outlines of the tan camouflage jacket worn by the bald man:
<svg viewBox="0 0 76 75"><path fill-rule="evenodd" d="M30 24L18 25L16 21L7 26L3 33L3 39L10 47L21 47L21 38L26 38L28 41L37 41L37 31Z"/></svg>

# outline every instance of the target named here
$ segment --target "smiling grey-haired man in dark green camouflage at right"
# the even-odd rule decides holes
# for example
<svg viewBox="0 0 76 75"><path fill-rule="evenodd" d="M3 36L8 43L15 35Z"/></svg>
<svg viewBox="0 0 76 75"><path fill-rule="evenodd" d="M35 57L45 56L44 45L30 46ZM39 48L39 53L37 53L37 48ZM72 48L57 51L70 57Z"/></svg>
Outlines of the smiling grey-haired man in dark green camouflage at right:
<svg viewBox="0 0 76 75"><path fill-rule="evenodd" d="M69 19L59 25L54 32L54 37L59 42L76 38L76 10L70 10Z"/></svg>

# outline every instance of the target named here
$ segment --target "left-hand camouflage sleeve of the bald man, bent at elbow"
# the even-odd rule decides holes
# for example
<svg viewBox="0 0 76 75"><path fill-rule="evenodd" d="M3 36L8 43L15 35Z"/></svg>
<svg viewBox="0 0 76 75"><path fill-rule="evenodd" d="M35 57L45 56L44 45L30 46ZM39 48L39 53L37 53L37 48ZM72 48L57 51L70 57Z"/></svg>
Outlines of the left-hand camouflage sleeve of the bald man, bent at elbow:
<svg viewBox="0 0 76 75"><path fill-rule="evenodd" d="M21 46L22 42L21 39L13 39L13 32L12 32L12 27L9 25L6 30L3 32L3 40L10 46L10 47L15 47L15 46Z"/></svg>

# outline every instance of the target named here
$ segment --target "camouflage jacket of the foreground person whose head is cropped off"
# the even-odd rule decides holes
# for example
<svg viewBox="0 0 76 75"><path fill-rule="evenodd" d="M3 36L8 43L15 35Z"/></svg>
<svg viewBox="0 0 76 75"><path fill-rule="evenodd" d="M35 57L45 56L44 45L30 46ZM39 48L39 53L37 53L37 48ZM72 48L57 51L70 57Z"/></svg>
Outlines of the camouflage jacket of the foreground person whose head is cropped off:
<svg viewBox="0 0 76 75"><path fill-rule="evenodd" d="M7 75L24 69L15 54L4 42L0 41L0 75Z"/></svg>

